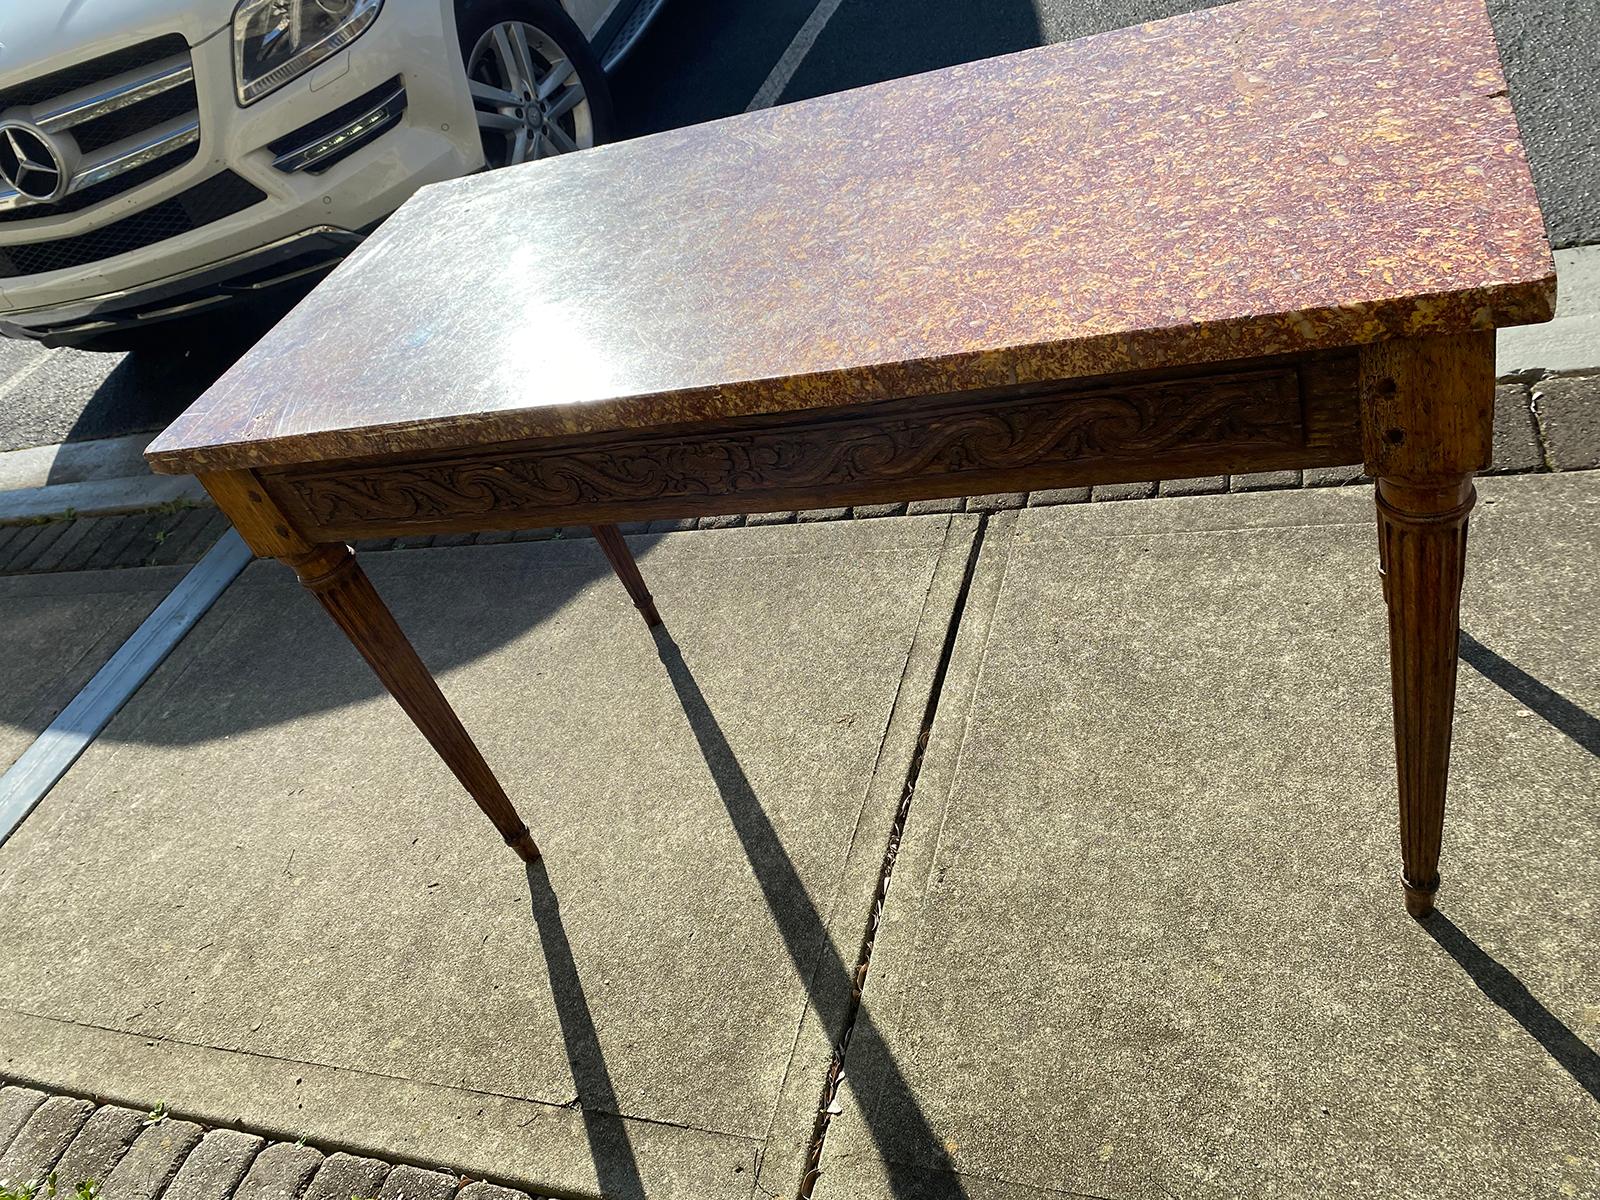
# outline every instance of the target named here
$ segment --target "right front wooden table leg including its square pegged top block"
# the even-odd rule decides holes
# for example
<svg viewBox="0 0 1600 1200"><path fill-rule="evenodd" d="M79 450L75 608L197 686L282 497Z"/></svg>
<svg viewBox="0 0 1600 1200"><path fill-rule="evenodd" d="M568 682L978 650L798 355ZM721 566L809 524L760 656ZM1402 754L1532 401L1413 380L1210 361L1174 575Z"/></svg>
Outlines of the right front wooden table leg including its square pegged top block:
<svg viewBox="0 0 1600 1200"><path fill-rule="evenodd" d="M1493 334L1363 349L1362 422L1389 606L1402 886L1421 918L1438 890L1472 472L1488 466L1494 427Z"/></svg>

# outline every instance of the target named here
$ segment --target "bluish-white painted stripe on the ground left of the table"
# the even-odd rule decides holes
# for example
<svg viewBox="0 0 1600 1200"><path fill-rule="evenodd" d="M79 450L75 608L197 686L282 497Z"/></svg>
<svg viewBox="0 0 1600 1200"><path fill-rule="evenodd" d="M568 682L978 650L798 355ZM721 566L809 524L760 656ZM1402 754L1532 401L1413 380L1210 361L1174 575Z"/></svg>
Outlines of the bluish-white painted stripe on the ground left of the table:
<svg viewBox="0 0 1600 1200"><path fill-rule="evenodd" d="M250 549L229 530L206 550L155 611L133 630L104 667L94 672L34 744L0 774L0 842L34 811L34 805L67 773L117 710L205 616L250 562Z"/></svg>

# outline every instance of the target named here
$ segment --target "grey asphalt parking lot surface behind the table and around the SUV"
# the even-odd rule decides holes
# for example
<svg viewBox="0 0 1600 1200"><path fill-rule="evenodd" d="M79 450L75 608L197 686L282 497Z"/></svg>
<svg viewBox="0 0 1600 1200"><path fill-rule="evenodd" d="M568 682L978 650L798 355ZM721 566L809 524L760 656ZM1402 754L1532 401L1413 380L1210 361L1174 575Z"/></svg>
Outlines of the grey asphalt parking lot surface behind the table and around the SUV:
<svg viewBox="0 0 1600 1200"><path fill-rule="evenodd" d="M674 0L613 78L626 136L742 112L808 18L826 24L778 102L1003 54L1203 0ZM1600 6L1491 0L1512 102L1557 246L1600 243ZM0 451L163 427L262 331L240 320L130 355L0 342Z"/></svg>

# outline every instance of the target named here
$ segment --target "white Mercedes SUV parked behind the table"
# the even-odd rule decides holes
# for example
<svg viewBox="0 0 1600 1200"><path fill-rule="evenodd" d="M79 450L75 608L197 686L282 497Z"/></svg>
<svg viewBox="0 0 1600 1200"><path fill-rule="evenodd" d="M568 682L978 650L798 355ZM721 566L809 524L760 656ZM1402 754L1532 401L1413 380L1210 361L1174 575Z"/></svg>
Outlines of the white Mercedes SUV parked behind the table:
<svg viewBox="0 0 1600 1200"><path fill-rule="evenodd" d="M0 0L0 333L126 349L610 136L662 0Z"/></svg>

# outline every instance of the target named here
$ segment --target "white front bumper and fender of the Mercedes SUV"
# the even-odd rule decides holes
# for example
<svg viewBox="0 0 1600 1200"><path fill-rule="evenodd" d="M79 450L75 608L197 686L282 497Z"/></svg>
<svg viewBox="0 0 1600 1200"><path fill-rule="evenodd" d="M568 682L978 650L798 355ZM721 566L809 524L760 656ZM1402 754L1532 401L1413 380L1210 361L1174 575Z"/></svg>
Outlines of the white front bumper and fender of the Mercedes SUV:
<svg viewBox="0 0 1600 1200"><path fill-rule="evenodd" d="M226 35L192 54L200 154L114 203L5 226L0 248L104 232L219 174L261 198L154 245L0 280L0 333L67 346L325 270L419 187L482 166L443 0L390 0L347 50L248 109Z"/></svg>

